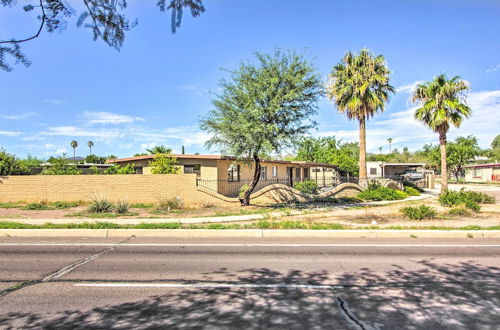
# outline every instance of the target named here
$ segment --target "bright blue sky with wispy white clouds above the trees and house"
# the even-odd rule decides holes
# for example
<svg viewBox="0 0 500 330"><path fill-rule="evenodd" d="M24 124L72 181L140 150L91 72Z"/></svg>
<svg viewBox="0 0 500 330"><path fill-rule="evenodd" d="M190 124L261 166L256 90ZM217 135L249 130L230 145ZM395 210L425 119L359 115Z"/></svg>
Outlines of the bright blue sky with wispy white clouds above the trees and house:
<svg viewBox="0 0 500 330"><path fill-rule="evenodd" d="M71 3L76 1L71 1ZM471 84L472 117L450 138L474 134L482 147L500 134L500 2L486 0L207 0L207 11L184 15L177 34L156 1L131 1L139 25L120 52L93 42L91 32L68 22L63 33L44 33L23 46L33 62L0 71L0 146L19 156L71 153L130 156L164 144L180 152L206 150L198 119L211 108L217 82L254 51L275 47L314 59L326 78L347 50L383 54L398 93L367 126L369 151L420 148L437 136L413 120L409 91L439 73ZM78 10L78 7L75 7ZM31 19L30 19L31 18ZM29 35L29 14L0 8L0 39ZM336 113L326 99L314 136L357 140L356 122Z"/></svg>

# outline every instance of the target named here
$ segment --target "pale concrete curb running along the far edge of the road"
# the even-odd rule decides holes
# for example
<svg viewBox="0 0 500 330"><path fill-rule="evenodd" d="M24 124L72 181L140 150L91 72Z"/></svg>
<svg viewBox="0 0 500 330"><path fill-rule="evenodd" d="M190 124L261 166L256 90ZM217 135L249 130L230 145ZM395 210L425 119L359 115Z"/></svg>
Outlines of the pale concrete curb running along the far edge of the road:
<svg viewBox="0 0 500 330"><path fill-rule="evenodd" d="M0 237L500 238L500 230L0 229Z"/></svg>

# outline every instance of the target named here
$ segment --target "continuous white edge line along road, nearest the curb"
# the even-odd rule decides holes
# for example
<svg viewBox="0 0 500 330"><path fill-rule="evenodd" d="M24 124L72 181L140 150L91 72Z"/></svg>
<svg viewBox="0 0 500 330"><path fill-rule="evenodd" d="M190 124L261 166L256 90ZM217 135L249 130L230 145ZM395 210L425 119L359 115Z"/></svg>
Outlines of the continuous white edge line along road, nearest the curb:
<svg viewBox="0 0 500 330"><path fill-rule="evenodd" d="M112 243L0 243L2 246L115 246ZM121 244L121 247L443 247L443 248L469 248L469 247L492 247L498 248L500 244L265 244L265 243L242 243L242 244L192 244L192 243L135 243Z"/></svg>

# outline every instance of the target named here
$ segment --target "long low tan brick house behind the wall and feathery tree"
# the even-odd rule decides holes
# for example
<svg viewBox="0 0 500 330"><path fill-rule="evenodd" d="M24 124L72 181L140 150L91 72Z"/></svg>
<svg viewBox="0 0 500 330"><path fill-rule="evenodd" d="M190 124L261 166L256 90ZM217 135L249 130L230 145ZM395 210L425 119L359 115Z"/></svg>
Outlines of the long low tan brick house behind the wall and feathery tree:
<svg viewBox="0 0 500 330"><path fill-rule="evenodd" d="M226 196L237 196L239 189L249 184L253 177L253 161L237 160L231 156L220 155L174 155L181 173L196 174L198 184ZM108 163L134 164L139 174L151 174L149 163L154 155L110 159ZM320 187L336 184L337 166L332 164L263 160L261 176L257 189L271 183L293 186L296 182L315 180Z"/></svg>

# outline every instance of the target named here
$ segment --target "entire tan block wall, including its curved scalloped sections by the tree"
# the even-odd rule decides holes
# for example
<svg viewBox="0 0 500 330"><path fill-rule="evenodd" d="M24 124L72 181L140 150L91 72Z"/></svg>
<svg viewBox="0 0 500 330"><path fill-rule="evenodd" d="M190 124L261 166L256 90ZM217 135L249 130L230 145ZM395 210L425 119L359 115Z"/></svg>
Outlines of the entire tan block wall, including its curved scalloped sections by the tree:
<svg viewBox="0 0 500 330"><path fill-rule="evenodd" d="M320 197L353 196L362 188L344 183ZM26 175L0 177L0 202L91 201L157 203L179 196L186 206L238 205L237 198L196 186L196 174L167 175ZM267 186L251 195L255 204L304 202L314 196L282 184Z"/></svg>

